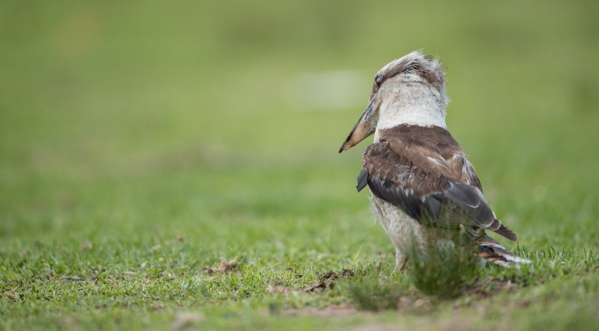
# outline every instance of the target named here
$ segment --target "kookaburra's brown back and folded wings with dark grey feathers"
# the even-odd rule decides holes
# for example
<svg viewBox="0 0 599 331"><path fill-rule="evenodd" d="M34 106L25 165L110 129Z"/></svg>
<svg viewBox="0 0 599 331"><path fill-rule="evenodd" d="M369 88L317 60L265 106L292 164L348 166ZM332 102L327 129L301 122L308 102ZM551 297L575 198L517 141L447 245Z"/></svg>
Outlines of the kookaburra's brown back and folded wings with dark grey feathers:
<svg viewBox="0 0 599 331"><path fill-rule="evenodd" d="M471 225L516 240L516 235L495 218L474 168L449 132L444 130L440 139L453 148L443 152L432 136L429 138L410 141L383 133L383 141L364 152L358 191L368 185L374 195L421 224Z"/></svg>

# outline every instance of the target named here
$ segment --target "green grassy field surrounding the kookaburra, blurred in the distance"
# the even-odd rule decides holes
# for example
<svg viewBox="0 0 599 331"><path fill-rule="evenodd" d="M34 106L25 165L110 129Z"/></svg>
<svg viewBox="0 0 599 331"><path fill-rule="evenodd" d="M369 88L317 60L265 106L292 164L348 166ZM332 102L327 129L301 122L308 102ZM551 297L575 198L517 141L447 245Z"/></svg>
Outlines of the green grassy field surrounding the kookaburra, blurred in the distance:
<svg viewBox="0 0 599 331"><path fill-rule="evenodd" d="M595 329L596 7L2 2L0 329ZM450 299L391 275L365 143L337 154L421 47L533 260ZM301 103L298 74L346 70L355 104Z"/></svg>

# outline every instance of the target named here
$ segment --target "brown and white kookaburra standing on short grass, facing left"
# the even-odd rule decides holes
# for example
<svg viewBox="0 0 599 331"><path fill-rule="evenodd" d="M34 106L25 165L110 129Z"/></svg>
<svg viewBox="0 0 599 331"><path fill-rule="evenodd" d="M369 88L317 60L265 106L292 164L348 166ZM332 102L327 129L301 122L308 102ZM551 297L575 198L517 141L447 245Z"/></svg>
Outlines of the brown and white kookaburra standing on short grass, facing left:
<svg viewBox="0 0 599 331"><path fill-rule="evenodd" d="M477 254L501 266L530 263L501 246L485 230L517 237L483 197L474 167L447 131L443 64L412 52L374 77L368 106L339 152L374 133L362 157L358 191L368 185L374 216L395 246L396 270L412 247L423 248L431 227L461 230Z"/></svg>

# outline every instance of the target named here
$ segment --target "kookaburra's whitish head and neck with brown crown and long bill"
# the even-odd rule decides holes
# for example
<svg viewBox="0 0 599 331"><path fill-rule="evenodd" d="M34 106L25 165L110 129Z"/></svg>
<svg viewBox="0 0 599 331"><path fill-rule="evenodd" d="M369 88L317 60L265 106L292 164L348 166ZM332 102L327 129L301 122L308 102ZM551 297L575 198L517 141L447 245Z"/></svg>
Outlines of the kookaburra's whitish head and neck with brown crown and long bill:
<svg viewBox="0 0 599 331"><path fill-rule="evenodd" d="M446 127L443 62L419 50L389 62L374 76L368 106L339 152L357 145L376 130L400 124Z"/></svg>

